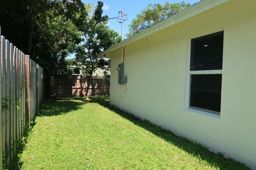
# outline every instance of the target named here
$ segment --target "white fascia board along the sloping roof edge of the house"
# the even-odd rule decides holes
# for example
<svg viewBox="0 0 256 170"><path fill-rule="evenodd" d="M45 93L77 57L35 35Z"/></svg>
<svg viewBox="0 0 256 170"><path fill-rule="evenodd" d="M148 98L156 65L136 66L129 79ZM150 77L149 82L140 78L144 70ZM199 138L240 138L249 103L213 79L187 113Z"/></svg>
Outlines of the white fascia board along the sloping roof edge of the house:
<svg viewBox="0 0 256 170"><path fill-rule="evenodd" d="M200 1L194 5L191 5L190 7L186 8L185 10L180 11L179 13L170 16L166 20L163 20L163 21L137 33L136 35L134 35L130 38L127 38L126 40L123 40L120 43L104 50L103 52L99 53L98 56L99 57L107 57L105 55L108 53L114 52L114 51L118 50L119 48L122 48L126 45L133 43L134 41L145 38L155 32L161 31L165 28L168 28L174 24L177 24L181 21L184 21L188 18L191 18L192 16L195 16L195 15L205 12L207 10L210 10L211 8L219 6L228 1L231 1L231 0L203 0L203 1Z"/></svg>

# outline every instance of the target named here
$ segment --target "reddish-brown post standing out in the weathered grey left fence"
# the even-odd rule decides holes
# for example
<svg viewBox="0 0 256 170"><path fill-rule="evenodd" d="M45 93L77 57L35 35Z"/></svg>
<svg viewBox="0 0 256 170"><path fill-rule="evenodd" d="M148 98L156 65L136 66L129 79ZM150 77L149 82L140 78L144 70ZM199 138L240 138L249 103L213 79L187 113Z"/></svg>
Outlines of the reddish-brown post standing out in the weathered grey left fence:
<svg viewBox="0 0 256 170"><path fill-rule="evenodd" d="M30 57L29 55L25 55L25 72L26 72L26 123L29 126L30 122Z"/></svg>

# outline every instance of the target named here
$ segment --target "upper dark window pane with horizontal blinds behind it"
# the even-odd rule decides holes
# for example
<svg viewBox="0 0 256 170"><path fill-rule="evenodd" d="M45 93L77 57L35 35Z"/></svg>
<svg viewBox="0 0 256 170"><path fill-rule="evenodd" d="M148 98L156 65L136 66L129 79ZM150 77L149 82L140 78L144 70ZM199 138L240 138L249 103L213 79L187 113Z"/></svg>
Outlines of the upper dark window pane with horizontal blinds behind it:
<svg viewBox="0 0 256 170"><path fill-rule="evenodd" d="M191 39L190 70L222 70L223 31Z"/></svg>

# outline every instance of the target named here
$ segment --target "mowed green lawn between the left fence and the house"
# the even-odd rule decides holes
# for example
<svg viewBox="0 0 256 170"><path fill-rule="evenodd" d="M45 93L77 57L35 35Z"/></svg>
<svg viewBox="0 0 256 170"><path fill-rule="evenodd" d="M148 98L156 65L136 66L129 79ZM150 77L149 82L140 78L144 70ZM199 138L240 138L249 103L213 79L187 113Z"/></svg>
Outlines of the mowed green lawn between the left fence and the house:
<svg viewBox="0 0 256 170"><path fill-rule="evenodd" d="M22 169L249 169L109 107L108 98L46 100Z"/></svg>

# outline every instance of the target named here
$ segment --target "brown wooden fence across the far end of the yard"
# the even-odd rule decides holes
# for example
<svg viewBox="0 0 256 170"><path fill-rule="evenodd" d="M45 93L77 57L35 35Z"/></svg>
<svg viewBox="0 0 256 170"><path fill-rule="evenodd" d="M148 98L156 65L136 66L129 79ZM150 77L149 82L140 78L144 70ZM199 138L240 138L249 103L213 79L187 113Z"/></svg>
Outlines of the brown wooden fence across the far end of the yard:
<svg viewBox="0 0 256 170"><path fill-rule="evenodd" d="M50 81L52 97L85 96L88 84L90 84L88 95L109 96L110 83L105 79L88 81L82 75L70 75L69 77L51 77Z"/></svg>

